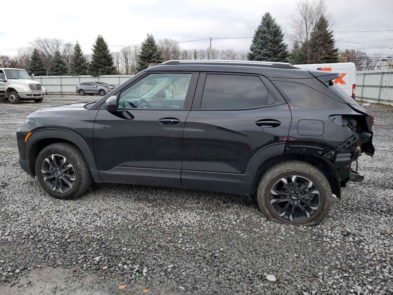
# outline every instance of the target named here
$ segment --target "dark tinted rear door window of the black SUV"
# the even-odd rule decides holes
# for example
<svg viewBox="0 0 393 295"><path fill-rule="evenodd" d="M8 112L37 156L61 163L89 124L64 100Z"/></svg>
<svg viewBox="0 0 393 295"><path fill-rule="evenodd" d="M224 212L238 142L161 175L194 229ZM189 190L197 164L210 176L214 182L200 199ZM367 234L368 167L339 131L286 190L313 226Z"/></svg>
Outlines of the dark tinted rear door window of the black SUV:
<svg viewBox="0 0 393 295"><path fill-rule="evenodd" d="M201 109L251 109L268 103L269 91L256 76L207 74Z"/></svg>

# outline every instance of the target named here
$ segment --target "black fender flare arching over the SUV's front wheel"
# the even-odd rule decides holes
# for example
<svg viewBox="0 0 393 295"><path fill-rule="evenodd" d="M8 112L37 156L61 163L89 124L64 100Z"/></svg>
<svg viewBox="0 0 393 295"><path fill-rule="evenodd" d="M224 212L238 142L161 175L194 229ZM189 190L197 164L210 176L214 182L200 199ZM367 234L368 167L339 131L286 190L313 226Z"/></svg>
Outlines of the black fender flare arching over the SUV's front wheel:
<svg viewBox="0 0 393 295"><path fill-rule="evenodd" d="M77 146L83 153L87 164L89 165L89 169L92 172L92 176L94 178L94 180L96 182L98 182L100 179L96 180L96 175L98 174L95 173L95 171L97 171L97 165L95 164L95 159L94 156L92 154L92 152L90 151L88 145L86 144L86 142L84 141L84 139L77 133L71 131L71 130L67 130L67 129L41 129L41 130L37 130L34 131L33 133L31 133L31 135L29 136L27 142L26 142L26 146L25 146L25 157L24 159L26 161L29 161L29 153L31 151L31 147L38 142L39 140L45 139L45 138L59 138L59 139L64 139L67 140L69 142L72 142L75 146ZM102 182L102 181L100 181Z"/></svg>

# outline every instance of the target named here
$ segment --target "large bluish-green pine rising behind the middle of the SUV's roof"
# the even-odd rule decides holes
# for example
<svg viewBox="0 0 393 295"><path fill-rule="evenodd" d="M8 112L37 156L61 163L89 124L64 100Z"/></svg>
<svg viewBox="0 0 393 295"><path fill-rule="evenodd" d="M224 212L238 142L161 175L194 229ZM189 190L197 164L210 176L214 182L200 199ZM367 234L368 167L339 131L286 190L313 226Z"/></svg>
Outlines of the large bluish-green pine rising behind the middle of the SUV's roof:
<svg viewBox="0 0 393 295"><path fill-rule="evenodd" d="M283 30L268 12L264 14L261 24L255 30L247 57L250 61L287 61L288 51L284 43Z"/></svg>

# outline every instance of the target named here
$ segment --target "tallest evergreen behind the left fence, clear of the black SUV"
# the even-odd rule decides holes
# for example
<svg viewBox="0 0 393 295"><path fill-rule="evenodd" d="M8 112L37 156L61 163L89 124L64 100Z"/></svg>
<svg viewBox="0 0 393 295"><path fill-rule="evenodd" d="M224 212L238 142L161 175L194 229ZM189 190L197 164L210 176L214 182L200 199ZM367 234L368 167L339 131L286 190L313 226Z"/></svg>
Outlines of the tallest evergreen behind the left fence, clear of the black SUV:
<svg viewBox="0 0 393 295"><path fill-rule="evenodd" d="M116 74L108 44L101 35L98 35L93 44L92 62L88 67L88 74L92 76Z"/></svg>

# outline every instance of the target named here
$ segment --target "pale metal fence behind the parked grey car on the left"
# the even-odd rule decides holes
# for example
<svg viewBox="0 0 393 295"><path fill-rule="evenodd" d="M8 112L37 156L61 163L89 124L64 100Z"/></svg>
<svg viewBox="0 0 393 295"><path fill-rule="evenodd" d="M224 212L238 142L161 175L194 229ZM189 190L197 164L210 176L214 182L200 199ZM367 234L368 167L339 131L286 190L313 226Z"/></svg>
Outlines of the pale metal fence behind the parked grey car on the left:
<svg viewBox="0 0 393 295"><path fill-rule="evenodd" d="M51 93L75 93L75 87L79 82L98 81L113 86L118 86L130 79L132 75L101 75L101 76L38 76L35 81Z"/></svg>

